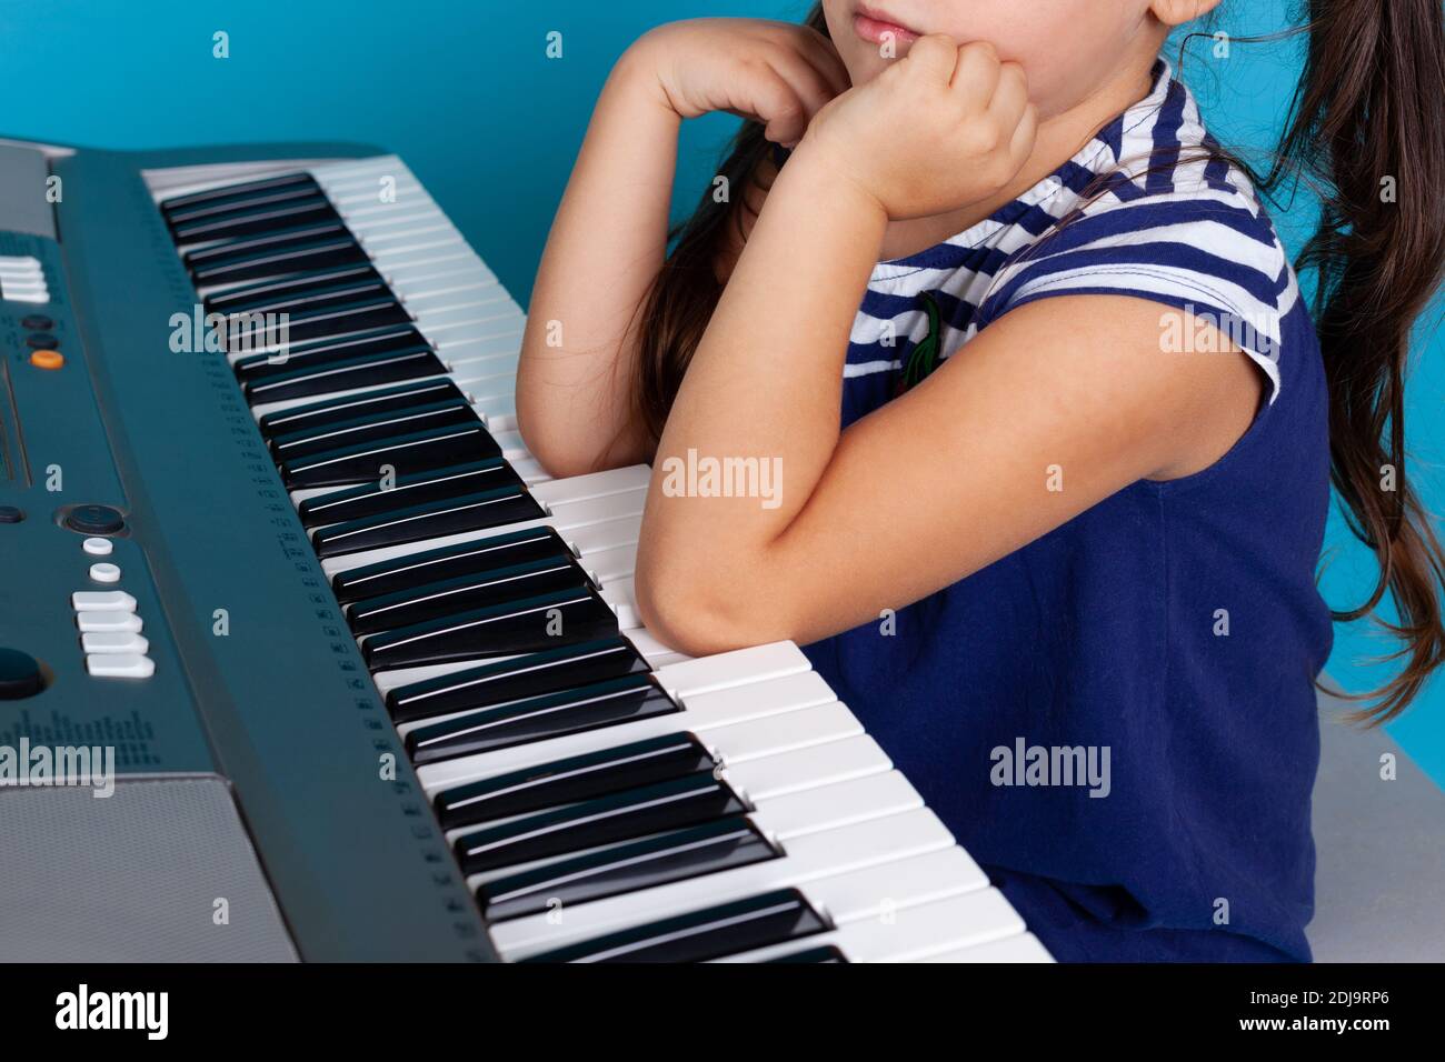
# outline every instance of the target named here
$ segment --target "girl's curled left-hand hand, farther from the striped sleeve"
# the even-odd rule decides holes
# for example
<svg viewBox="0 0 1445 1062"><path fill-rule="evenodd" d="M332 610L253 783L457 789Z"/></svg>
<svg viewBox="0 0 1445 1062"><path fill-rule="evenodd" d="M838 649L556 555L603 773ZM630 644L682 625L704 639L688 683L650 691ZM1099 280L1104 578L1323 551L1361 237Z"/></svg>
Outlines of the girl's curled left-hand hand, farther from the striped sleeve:
<svg viewBox="0 0 1445 1062"><path fill-rule="evenodd" d="M850 84L825 36L763 19L668 23L640 38L624 61L656 75L679 117L728 111L763 123L767 139L786 147Z"/></svg>

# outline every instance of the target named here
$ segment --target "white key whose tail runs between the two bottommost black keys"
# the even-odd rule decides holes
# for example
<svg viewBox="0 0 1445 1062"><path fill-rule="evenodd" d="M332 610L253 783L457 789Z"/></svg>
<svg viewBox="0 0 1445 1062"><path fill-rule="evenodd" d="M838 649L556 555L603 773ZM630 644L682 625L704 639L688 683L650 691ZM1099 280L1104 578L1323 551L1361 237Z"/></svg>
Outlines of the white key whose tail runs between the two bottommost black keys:
<svg viewBox="0 0 1445 1062"><path fill-rule="evenodd" d="M809 948L834 945L850 962L918 962L931 955L987 944L1023 932L1023 919L997 889L962 893L933 903L892 909L832 932L728 955L718 962L767 962Z"/></svg>

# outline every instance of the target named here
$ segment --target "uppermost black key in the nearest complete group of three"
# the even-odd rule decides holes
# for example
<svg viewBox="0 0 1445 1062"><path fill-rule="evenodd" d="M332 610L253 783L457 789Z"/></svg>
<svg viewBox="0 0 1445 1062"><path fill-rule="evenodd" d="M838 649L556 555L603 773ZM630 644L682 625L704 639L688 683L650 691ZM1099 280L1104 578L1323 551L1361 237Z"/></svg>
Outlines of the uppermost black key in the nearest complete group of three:
<svg viewBox="0 0 1445 1062"><path fill-rule="evenodd" d="M665 734L444 789L432 806L442 829L458 829L712 769L692 734Z"/></svg>

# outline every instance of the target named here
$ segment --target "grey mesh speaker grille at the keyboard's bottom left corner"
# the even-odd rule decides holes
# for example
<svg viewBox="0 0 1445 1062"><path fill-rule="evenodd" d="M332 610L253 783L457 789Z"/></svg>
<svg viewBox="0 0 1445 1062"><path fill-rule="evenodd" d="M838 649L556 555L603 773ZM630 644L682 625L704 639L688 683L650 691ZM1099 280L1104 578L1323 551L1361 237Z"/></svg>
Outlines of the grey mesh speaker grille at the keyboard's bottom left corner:
<svg viewBox="0 0 1445 1062"><path fill-rule="evenodd" d="M4 962L296 961L215 777L0 787L0 928Z"/></svg>

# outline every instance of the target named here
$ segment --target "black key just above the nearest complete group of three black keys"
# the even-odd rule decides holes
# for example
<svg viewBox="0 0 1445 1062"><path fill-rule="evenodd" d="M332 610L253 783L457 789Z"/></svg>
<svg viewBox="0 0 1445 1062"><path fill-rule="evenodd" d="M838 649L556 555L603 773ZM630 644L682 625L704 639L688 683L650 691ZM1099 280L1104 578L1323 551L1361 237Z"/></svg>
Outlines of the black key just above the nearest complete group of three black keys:
<svg viewBox="0 0 1445 1062"><path fill-rule="evenodd" d="M418 764L436 763L678 711L649 676L629 675L418 727L406 735L406 751Z"/></svg>

